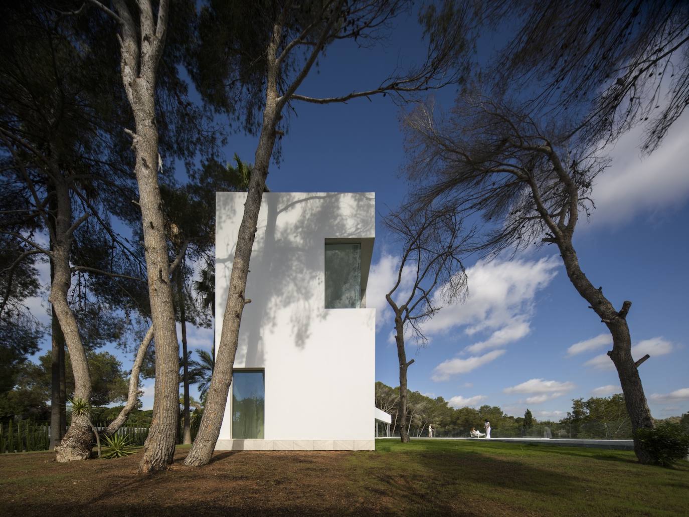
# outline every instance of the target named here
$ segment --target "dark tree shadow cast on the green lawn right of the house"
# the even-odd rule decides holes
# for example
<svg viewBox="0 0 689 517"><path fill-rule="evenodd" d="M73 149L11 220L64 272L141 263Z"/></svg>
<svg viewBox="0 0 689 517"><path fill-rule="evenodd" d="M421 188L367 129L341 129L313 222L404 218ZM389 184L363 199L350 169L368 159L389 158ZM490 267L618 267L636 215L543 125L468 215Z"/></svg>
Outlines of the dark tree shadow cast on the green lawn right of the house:
<svg viewBox="0 0 689 517"><path fill-rule="evenodd" d="M520 513L527 501L568 498L585 492L588 483L585 476L529 465L518 456L496 458L497 451L394 449L375 462L353 460L360 472L352 477L371 497L402 502L404 515L423 514L429 505L438 514Z"/></svg>

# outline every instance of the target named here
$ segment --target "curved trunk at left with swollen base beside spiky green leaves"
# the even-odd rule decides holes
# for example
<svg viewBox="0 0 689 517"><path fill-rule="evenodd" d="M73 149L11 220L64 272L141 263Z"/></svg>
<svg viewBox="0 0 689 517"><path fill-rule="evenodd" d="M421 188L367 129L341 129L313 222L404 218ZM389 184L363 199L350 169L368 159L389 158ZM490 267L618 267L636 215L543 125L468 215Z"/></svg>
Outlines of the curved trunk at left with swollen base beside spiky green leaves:
<svg viewBox="0 0 689 517"><path fill-rule="evenodd" d="M88 361L81 343L74 312L72 312L67 301L70 285L72 285L70 247L72 234L79 222L72 223L70 192L66 183L60 182L56 185L55 196L57 212L54 225L55 243L52 249L54 276L48 301L52 304L60 322L60 328L70 352L72 373L74 374L74 399L89 403L91 401L91 376L88 370ZM59 445L55 447L56 460L58 463L67 463L88 459L92 446L93 434L88 423L88 417L73 415L69 431L63 436Z"/></svg>

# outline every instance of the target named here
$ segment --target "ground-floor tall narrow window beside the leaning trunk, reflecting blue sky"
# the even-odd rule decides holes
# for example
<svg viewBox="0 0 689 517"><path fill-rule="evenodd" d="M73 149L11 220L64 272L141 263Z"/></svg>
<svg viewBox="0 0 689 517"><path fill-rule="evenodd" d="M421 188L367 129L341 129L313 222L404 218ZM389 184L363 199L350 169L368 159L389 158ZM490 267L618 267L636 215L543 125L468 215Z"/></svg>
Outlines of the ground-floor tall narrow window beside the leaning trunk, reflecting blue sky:
<svg viewBox="0 0 689 517"><path fill-rule="evenodd" d="M263 438L264 372L232 372L232 438Z"/></svg>

